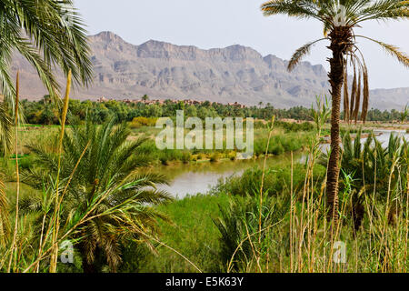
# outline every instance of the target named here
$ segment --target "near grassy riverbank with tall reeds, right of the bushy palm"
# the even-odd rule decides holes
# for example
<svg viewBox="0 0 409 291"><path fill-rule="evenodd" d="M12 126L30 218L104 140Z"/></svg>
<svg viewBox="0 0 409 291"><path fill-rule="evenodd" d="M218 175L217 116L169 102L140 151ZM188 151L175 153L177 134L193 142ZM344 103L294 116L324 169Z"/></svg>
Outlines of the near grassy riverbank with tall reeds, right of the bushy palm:
<svg viewBox="0 0 409 291"><path fill-rule="evenodd" d="M269 164L264 173L263 167L252 166L241 175L220 179L210 191L159 206L173 222L160 222L160 239L203 272L407 271L404 255L409 223L404 215L408 213L407 189L398 185L407 187L404 174L409 164L404 156L408 148L388 143L391 134L384 132L378 136L382 137L379 142L384 148L370 146L359 155L354 153L352 139L346 146L340 176L341 223L335 234L345 247L346 264L323 259L334 255L333 246L328 243L329 226L324 215L324 160L318 160L307 175L304 163L294 159L292 164L283 155L281 160ZM363 148L365 139L356 148ZM367 158L363 160L361 155ZM381 177L382 173L388 173L394 155L401 157L399 166L394 167L396 175L386 182L368 175L375 173ZM362 190L363 183L367 192ZM385 201L391 188L395 200L387 206ZM362 199L356 200L358 197ZM394 210L395 205L402 207L399 212ZM376 207L376 215L371 207ZM263 231L258 236L260 227ZM385 246L390 250L389 255L384 254ZM394 260L390 259L392 254ZM138 255L142 259L136 268L139 272L197 271L166 247L158 249L158 256L146 249L139 249Z"/></svg>

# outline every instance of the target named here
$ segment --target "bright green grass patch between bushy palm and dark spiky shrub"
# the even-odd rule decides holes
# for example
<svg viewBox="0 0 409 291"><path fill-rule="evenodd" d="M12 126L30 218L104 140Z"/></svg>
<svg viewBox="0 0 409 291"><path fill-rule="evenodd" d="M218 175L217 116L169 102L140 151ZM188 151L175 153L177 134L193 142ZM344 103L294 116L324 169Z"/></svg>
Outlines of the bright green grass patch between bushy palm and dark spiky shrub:
<svg viewBox="0 0 409 291"><path fill-rule="evenodd" d="M213 219L220 216L219 206L227 206L229 196L196 195L160 206L173 224L159 221L160 240L167 246L188 257L204 272L225 269L219 258L220 232ZM132 272L196 272L182 256L171 249L160 246L157 256L146 250L131 249L125 252L125 260ZM139 261L132 263L133 261ZM131 266L132 265L132 266Z"/></svg>

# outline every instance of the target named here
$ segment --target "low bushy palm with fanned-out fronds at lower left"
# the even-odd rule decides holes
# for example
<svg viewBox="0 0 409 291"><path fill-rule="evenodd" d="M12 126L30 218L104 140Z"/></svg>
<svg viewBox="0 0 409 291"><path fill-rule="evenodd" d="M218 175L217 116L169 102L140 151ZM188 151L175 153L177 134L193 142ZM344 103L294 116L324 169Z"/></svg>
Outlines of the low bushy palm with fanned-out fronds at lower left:
<svg viewBox="0 0 409 291"><path fill-rule="evenodd" d="M165 218L153 207L171 199L155 187L157 183L166 183L165 177L150 174L143 168L149 162L141 148L145 139L128 141L130 133L128 125L115 125L114 118L103 125L95 125L87 117L86 125L73 126L65 136L61 187L70 176L71 181L63 200L61 225L72 225L74 217L82 216L95 200L104 197L89 215L94 218L79 226L71 236L79 240L77 246L85 272L98 271L101 258L111 271L116 271L125 242L145 241L152 247L148 236L155 236L156 218ZM44 186L42 181L53 183L45 177L56 175L57 156L41 146L30 148L40 170L25 172L24 181L37 189L48 188L51 185ZM38 214L38 228L44 217L42 209L45 209L41 201L39 196L30 196L21 203L23 214L26 211ZM47 212L52 213L53 210Z"/></svg>

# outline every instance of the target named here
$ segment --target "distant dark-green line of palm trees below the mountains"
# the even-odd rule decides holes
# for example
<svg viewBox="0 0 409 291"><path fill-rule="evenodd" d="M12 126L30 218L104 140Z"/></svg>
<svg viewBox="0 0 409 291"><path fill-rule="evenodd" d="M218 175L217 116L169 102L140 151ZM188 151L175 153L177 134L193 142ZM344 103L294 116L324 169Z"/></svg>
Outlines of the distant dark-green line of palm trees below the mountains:
<svg viewBox="0 0 409 291"><path fill-rule="evenodd" d="M25 112L25 121L34 125L58 125L59 110L51 99L45 96L40 101L23 100L22 106ZM214 116L231 117L254 117L258 119L270 119L275 115L278 119L311 120L310 108L294 106L288 109L274 108L271 104L240 107L235 105L222 105L205 101L201 104L188 105L183 101L175 103L166 100L163 104L125 103L122 101L109 100L106 102L80 101L72 99L69 103L71 118L84 120L85 115L94 115L97 123L105 122L109 116L115 115L118 122L132 121L135 117L165 117L175 116L176 110L184 110L185 116L197 116L200 118ZM368 121L391 122L398 120L401 113L397 110L380 111L371 109L368 111Z"/></svg>

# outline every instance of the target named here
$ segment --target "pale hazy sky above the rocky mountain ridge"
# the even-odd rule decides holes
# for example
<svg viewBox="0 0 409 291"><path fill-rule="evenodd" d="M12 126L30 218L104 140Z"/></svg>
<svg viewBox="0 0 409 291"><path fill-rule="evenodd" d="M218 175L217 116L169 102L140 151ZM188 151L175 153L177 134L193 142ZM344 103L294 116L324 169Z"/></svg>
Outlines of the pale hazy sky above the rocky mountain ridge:
<svg viewBox="0 0 409 291"><path fill-rule="evenodd" d="M200 48L251 46L262 55L289 59L294 50L323 36L315 20L264 17L263 0L75 0L90 35L109 30L140 45L149 39ZM357 35L399 46L409 54L409 21L364 23ZM371 88L409 86L409 69L385 55L379 45L359 40L369 70ZM305 60L323 64L327 43L316 45Z"/></svg>

